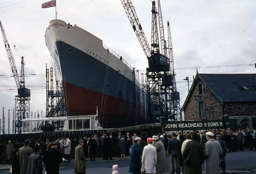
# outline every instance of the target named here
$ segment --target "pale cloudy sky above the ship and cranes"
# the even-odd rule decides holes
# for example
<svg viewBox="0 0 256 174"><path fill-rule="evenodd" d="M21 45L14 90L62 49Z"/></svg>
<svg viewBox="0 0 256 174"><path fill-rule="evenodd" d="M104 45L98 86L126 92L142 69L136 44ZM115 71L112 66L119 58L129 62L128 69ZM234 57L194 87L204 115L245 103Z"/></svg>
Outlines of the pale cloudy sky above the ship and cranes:
<svg viewBox="0 0 256 174"><path fill-rule="evenodd" d="M0 20L20 74L25 61L26 87L31 90L30 113L45 115L46 64L52 66L45 31L55 8L47 0L0 0ZM147 40L151 41L151 0L132 0ZM198 73L256 73L256 1L161 0L165 39L170 22L180 107ZM102 39L132 67L145 74L147 58L120 0L57 0L57 18ZM15 45L15 49L14 46ZM149 43L150 45L150 43ZM17 87L0 37L0 118L4 107L15 107ZM12 111L11 111L12 116Z"/></svg>

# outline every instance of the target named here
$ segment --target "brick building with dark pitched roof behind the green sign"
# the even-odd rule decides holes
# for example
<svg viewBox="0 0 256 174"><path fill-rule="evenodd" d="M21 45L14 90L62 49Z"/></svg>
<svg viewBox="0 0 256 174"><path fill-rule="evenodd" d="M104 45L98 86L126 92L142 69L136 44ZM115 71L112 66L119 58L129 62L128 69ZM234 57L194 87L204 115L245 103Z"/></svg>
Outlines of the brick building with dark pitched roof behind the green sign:
<svg viewBox="0 0 256 174"><path fill-rule="evenodd" d="M197 74L183 104L185 120L230 116L238 127L256 126L256 74Z"/></svg>

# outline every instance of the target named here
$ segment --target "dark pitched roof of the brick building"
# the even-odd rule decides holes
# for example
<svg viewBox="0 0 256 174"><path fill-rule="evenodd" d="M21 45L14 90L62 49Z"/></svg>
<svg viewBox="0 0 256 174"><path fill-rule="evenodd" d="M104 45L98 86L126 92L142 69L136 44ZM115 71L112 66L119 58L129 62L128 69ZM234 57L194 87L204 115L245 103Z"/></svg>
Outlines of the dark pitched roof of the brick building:
<svg viewBox="0 0 256 174"><path fill-rule="evenodd" d="M197 74L183 108L186 107L198 80L201 80L222 104L256 102L256 74Z"/></svg>

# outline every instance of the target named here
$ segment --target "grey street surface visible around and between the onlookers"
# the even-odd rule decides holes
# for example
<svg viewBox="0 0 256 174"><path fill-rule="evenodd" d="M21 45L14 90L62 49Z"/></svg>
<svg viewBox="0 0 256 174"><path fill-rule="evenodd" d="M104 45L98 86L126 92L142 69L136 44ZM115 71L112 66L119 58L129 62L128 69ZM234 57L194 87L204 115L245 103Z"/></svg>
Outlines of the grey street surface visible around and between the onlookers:
<svg viewBox="0 0 256 174"><path fill-rule="evenodd" d="M256 174L256 151L244 151L230 152L226 155L227 174ZM170 160L167 156L168 168L170 169ZM70 164L63 163L60 165L60 174L72 174L75 161L71 160ZM87 161L86 174L111 174L112 165L118 164L119 174L129 174L129 156L127 159L119 159L119 157L113 157L113 160L102 160L102 158L96 158L95 162ZM9 174L10 165L0 164L0 173ZM205 174L204 164L202 165L203 174ZM182 169L181 169L182 170ZM44 167L45 171L45 167ZM43 173L45 173L43 171ZM166 172L169 174L169 171Z"/></svg>

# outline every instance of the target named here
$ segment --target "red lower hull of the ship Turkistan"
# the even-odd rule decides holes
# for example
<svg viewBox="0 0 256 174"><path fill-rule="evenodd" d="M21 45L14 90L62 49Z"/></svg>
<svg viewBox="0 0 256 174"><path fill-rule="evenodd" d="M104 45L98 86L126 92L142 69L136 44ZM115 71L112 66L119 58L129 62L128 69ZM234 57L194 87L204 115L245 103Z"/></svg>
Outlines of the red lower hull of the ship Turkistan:
<svg viewBox="0 0 256 174"><path fill-rule="evenodd" d="M113 96L88 90L65 82L66 107L68 116L96 114L98 106L99 122L103 128L118 128L135 125L133 104ZM141 109L142 110L142 109ZM138 116L137 124L144 124L142 114Z"/></svg>

